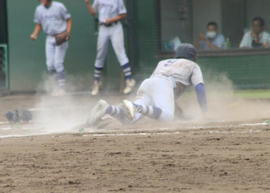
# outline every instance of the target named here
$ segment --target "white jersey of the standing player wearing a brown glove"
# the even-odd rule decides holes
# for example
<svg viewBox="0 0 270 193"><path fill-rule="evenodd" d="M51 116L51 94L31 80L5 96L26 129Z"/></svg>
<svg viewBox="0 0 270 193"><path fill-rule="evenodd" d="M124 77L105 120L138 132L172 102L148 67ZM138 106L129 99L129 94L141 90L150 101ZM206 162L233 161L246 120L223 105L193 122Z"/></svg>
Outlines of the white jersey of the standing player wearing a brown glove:
<svg viewBox="0 0 270 193"><path fill-rule="evenodd" d="M44 33L54 36L66 30L66 20L70 17L63 3L53 1L48 8L38 5L34 22L42 26Z"/></svg>

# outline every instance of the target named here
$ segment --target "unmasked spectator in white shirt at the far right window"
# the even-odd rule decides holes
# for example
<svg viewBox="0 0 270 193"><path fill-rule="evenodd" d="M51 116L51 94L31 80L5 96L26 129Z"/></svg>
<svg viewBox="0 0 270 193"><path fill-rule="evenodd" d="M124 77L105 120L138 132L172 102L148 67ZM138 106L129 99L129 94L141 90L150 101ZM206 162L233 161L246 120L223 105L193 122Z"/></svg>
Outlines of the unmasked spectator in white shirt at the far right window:
<svg viewBox="0 0 270 193"><path fill-rule="evenodd" d="M252 20L252 30L244 34L240 48L267 48L270 35L264 30L265 22L256 17Z"/></svg>

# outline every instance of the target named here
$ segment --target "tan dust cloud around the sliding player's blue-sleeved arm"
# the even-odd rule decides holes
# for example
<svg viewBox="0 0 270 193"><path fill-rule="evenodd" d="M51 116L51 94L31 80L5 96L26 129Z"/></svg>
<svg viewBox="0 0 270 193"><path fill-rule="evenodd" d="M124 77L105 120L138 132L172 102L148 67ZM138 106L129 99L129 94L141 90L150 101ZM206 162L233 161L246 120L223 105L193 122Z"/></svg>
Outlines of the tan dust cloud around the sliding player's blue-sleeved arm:
<svg viewBox="0 0 270 193"><path fill-rule="evenodd" d="M232 81L225 73L205 72L204 83L208 102L208 121L252 121L270 118L269 100L251 100L234 94ZM202 121L194 87L189 88L177 102L189 121Z"/></svg>

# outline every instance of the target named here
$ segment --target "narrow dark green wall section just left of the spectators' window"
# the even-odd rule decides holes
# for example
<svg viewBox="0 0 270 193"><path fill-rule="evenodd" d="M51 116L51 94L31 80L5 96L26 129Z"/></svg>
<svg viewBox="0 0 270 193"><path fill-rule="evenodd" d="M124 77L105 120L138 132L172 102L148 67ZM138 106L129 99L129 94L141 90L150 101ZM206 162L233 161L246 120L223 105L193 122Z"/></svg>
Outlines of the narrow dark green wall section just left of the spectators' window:
<svg viewBox="0 0 270 193"><path fill-rule="evenodd" d="M137 76L151 74L160 60L158 55L157 1L135 1L135 36Z"/></svg>

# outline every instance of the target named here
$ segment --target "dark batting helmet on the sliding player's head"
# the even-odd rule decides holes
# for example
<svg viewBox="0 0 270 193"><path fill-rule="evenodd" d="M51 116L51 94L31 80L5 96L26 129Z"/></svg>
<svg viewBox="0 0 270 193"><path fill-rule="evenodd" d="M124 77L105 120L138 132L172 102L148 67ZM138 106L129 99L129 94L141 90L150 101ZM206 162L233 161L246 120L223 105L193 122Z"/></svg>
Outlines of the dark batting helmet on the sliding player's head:
<svg viewBox="0 0 270 193"><path fill-rule="evenodd" d="M175 51L175 58L184 57L193 62L197 61L197 52L191 44L181 44Z"/></svg>

